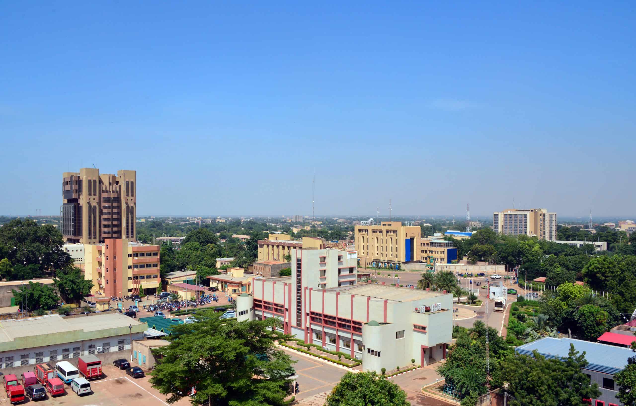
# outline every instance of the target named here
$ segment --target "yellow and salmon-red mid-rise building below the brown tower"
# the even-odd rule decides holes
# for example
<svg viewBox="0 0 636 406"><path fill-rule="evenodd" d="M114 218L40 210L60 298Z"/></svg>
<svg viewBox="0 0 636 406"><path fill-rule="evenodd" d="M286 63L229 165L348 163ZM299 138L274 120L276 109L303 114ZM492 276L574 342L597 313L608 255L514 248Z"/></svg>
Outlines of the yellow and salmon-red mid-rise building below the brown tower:
<svg viewBox="0 0 636 406"><path fill-rule="evenodd" d="M159 246L130 242L127 239L106 239L104 244L86 247L84 277L93 281L93 293L106 297L156 293L159 277Z"/></svg>

